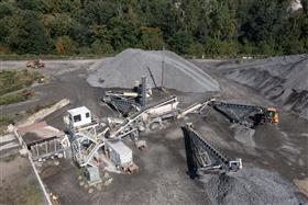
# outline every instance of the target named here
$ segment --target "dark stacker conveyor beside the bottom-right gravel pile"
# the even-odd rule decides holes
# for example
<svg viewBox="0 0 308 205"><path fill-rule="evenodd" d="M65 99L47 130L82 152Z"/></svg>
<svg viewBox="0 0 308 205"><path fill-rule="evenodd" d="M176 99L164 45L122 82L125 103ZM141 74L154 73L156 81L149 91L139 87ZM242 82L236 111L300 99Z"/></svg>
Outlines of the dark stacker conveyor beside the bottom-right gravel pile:
<svg viewBox="0 0 308 205"><path fill-rule="evenodd" d="M221 150L216 148L205 137L199 135L191 123L182 127L185 138L188 173L191 179L207 172L237 172L242 169L240 158L230 159Z"/></svg>

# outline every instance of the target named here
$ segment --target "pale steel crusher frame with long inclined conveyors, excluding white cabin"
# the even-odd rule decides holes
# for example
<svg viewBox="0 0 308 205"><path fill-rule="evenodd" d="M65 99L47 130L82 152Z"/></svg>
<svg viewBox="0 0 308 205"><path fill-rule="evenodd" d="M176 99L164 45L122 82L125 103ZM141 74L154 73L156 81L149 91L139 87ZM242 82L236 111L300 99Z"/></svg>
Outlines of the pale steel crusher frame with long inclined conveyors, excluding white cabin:
<svg viewBox="0 0 308 205"><path fill-rule="evenodd" d="M72 149L75 161L79 167L97 167L99 162L99 150L105 146L108 140L122 140L124 137L130 136L132 140L136 141L139 132L150 130L151 125L163 125L163 121L169 117L185 116L191 112L200 112L212 100L202 103L194 104L186 110L177 109L177 98L170 96L169 99L160 101L142 109L141 111L130 115L125 119L108 118L108 124L103 130L98 133L97 129L102 127L97 123L82 129L74 129Z"/></svg>

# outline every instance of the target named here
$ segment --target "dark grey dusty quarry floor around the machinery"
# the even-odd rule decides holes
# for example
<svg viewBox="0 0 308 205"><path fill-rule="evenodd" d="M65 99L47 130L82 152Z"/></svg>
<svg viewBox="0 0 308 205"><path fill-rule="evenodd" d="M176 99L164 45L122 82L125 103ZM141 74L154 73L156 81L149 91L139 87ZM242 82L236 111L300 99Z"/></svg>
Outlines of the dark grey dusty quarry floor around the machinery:
<svg viewBox="0 0 308 205"><path fill-rule="evenodd" d="M86 82L88 71L85 69L92 61L82 66L73 66L65 73L54 66L47 70L52 81L34 87L38 93L34 101L1 107L2 114L14 114L36 104L72 100L69 107L86 105L99 117L117 116L114 112L99 104L103 89L91 88ZM205 100L215 95L219 100L256 104L275 105L260 95L255 90L224 78L215 69L220 61L198 61L201 69L219 81L221 93L179 93L180 106ZM69 62L70 65L70 62ZM80 65L77 64L76 65ZM206 66L205 66L206 65ZM209 65L211 68L209 68ZM18 69L18 68L16 68ZM64 107L45 119L52 126L63 128ZM250 138L244 133L235 133L234 126L213 110L205 115L188 115L185 121L168 122L166 128L143 134L148 149L144 152L133 149L134 161L140 171L132 175L110 173L113 178L109 186L88 194L79 186L79 171L72 160L62 160L59 166L51 166L48 173L42 172L47 189L59 196L62 204L210 204L210 198L197 181L187 175L184 139L180 126L193 122L196 129L231 158L242 158L243 169L257 167L277 172L290 183L305 182L308 179L308 121L278 107L280 122L277 126L258 126ZM306 186L307 189L307 186ZM290 191L293 192L293 191ZM302 191L304 192L304 191Z"/></svg>

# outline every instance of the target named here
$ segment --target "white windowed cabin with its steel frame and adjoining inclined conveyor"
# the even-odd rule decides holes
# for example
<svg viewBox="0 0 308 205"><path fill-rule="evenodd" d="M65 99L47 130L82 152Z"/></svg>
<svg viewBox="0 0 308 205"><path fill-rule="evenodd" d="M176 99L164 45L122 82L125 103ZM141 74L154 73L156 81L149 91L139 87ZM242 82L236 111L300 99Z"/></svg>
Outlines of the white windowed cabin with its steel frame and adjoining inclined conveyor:
<svg viewBox="0 0 308 205"><path fill-rule="evenodd" d="M178 111L177 104L177 98L172 96L148 105L124 119L109 118L107 124L95 119L85 106L69 110L64 122L70 134L74 160L79 167L98 167L101 155L107 150L108 141L122 140L129 136L135 145L139 145L139 132L150 129L153 124L162 125L162 121L175 116ZM130 167L124 170L131 169Z"/></svg>

